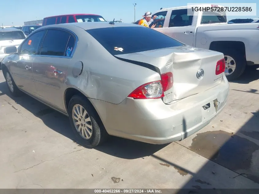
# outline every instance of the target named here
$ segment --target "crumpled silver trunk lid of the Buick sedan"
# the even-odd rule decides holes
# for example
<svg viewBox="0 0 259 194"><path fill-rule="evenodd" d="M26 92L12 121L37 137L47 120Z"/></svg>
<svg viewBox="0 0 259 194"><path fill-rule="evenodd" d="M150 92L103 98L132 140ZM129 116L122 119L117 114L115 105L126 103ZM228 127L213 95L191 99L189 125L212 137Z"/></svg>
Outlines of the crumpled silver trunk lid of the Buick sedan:
<svg viewBox="0 0 259 194"><path fill-rule="evenodd" d="M148 63L158 67L160 73L173 73L173 87L165 91L164 103L170 103L217 86L223 73L216 75L216 64L223 53L191 46L163 48L116 55L119 58ZM199 73L204 72L201 79ZM197 75L198 73L198 75Z"/></svg>

